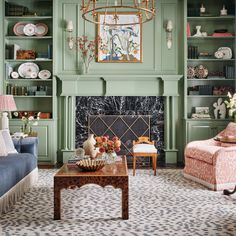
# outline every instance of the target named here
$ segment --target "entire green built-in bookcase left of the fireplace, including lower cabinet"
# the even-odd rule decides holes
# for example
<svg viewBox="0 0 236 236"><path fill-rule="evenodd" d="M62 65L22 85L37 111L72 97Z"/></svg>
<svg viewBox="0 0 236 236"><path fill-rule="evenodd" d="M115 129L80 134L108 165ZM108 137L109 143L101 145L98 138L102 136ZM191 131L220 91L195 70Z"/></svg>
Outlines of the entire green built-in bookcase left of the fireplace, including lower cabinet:
<svg viewBox="0 0 236 236"><path fill-rule="evenodd" d="M37 131L39 161L55 162L56 80L53 58L54 0L3 0L3 93L14 96L17 112L10 131L20 131L16 114L42 114ZM47 138L45 138L47 136Z"/></svg>

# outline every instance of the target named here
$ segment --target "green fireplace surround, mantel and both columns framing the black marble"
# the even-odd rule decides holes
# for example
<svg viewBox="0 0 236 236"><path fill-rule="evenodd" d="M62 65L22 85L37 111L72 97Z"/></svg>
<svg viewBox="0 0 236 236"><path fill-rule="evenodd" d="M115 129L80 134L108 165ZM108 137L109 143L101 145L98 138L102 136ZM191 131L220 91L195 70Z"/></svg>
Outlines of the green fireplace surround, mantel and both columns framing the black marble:
<svg viewBox="0 0 236 236"><path fill-rule="evenodd" d="M165 97L165 158L177 163L176 129L179 124L178 82L182 75L92 75L61 76L58 95L61 96L61 148L63 161L71 155L75 144L75 96L164 96Z"/></svg>

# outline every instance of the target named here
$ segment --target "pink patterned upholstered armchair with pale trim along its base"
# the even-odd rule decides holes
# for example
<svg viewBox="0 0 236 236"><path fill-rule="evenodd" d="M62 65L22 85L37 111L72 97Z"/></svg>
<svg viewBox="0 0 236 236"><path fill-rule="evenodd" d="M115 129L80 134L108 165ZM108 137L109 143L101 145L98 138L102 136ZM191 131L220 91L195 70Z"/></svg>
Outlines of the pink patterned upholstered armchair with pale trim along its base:
<svg viewBox="0 0 236 236"><path fill-rule="evenodd" d="M229 123L217 136L236 138L236 123ZM193 141L185 147L184 177L212 190L234 188L236 185L236 144L213 138Z"/></svg>

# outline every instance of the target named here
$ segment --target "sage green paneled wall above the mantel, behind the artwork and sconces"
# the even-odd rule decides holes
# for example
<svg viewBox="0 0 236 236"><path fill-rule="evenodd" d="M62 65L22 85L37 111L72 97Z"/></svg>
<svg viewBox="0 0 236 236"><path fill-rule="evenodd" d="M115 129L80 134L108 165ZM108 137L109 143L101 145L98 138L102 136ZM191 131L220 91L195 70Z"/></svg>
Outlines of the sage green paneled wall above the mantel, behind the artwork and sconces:
<svg viewBox="0 0 236 236"><path fill-rule="evenodd" d="M57 31L57 74L81 74L82 63L78 51L69 50L65 31L66 22L73 21L73 36L87 35L89 39L96 36L96 25L84 22L81 17L80 3L75 0L58 1L58 31ZM157 13L154 20L143 24L142 33L142 63L98 63L92 62L89 74L178 74L177 71L177 0L156 1ZM174 22L173 46L166 46L166 20Z"/></svg>

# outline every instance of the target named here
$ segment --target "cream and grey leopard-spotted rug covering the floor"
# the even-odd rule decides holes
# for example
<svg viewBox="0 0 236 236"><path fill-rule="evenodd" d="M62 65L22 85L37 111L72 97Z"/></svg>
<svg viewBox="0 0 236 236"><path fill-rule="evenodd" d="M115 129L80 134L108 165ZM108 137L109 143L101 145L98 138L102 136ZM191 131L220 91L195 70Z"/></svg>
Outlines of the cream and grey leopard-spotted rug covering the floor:
<svg viewBox="0 0 236 236"><path fill-rule="evenodd" d="M236 235L236 194L224 196L185 179L182 170L129 171L129 220L121 191L96 185L62 191L62 219L53 220L53 175L39 181L0 218L1 236Z"/></svg>

